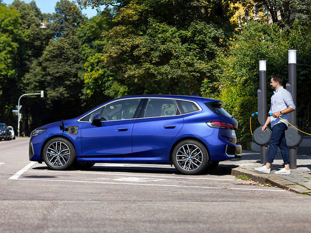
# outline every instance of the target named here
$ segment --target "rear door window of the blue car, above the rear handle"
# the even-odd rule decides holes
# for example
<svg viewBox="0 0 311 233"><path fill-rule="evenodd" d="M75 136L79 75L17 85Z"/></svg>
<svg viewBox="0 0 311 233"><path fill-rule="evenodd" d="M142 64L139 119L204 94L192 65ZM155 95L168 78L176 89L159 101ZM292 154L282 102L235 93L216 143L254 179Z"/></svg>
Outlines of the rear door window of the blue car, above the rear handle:
<svg viewBox="0 0 311 233"><path fill-rule="evenodd" d="M174 100L149 99L144 117L163 117L180 115Z"/></svg>

